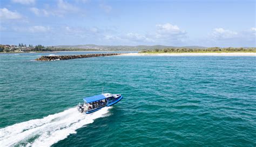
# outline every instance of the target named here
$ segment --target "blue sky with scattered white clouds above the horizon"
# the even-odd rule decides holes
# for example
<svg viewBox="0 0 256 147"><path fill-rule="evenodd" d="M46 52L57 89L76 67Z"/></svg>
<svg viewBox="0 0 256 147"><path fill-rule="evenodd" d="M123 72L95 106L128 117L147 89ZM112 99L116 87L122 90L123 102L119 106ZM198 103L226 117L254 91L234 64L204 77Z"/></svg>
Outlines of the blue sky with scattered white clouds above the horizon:
<svg viewBox="0 0 256 147"><path fill-rule="evenodd" d="M1 0L0 44L256 47L255 9L255 0Z"/></svg>

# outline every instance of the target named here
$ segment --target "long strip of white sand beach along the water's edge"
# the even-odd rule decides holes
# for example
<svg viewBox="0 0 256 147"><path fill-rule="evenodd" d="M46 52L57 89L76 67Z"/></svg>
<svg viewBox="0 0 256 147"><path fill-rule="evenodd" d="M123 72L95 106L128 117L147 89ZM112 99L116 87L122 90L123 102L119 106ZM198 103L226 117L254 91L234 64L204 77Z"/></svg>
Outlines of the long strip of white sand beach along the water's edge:
<svg viewBox="0 0 256 147"><path fill-rule="evenodd" d="M256 56L256 53L126 53L122 56Z"/></svg>

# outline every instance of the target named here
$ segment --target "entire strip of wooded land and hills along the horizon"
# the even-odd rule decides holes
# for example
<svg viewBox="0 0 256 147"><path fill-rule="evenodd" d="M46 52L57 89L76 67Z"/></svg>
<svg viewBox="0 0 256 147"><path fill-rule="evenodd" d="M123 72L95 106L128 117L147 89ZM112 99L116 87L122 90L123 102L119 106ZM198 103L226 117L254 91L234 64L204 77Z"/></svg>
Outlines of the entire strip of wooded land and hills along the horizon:
<svg viewBox="0 0 256 147"><path fill-rule="evenodd" d="M57 51L140 51L139 53L222 53L222 52L256 52L256 47L201 47L201 46L43 46L43 45L0 45L0 52L57 52Z"/></svg>

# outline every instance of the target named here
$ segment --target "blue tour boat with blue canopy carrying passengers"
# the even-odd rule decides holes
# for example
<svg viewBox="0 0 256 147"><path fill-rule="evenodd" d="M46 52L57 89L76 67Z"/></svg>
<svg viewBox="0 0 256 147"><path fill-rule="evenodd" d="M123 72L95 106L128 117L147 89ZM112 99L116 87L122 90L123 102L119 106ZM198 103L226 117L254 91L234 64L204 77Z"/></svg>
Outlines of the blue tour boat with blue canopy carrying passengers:
<svg viewBox="0 0 256 147"><path fill-rule="evenodd" d="M120 94L103 93L95 96L84 97L84 104L78 104L77 109L80 113L90 114L102 109L110 107L123 99Z"/></svg>

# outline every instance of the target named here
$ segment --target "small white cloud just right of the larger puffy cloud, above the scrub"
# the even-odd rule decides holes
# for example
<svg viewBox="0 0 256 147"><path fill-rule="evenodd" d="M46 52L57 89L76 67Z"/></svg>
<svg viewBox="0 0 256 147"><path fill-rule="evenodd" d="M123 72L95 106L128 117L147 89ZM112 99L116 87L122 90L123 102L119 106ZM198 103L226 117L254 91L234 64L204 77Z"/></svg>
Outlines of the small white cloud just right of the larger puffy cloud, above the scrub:
<svg viewBox="0 0 256 147"><path fill-rule="evenodd" d="M214 39L232 39L238 36L237 32L225 30L223 28L215 28L212 37Z"/></svg>

